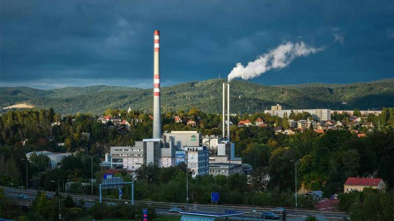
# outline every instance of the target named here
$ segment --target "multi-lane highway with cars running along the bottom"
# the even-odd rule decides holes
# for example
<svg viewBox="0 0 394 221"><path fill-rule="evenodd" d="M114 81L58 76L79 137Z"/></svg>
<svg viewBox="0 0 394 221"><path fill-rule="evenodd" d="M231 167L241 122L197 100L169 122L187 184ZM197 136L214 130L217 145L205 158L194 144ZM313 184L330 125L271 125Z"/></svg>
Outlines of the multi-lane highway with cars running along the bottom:
<svg viewBox="0 0 394 221"><path fill-rule="evenodd" d="M36 197L37 190L33 189L16 189L10 187L3 187L4 193L6 197L9 197L14 200L14 202L18 202L19 205L22 206L30 206L32 200ZM42 191L48 195L53 196L55 192L51 191ZM19 197L20 194L27 195L28 199L23 199ZM83 195L83 194L73 194L73 193L61 193L62 195L70 195L76 201L82 199L85 202L85 207L91 207L95 203L99 201L99 196L91 195ZM127 204L130 205L131 201L126 199L114 199L114 198L104 198L103 203L107 202L114 202L117 204ZM126 203L127 202L127 203ZM157 214L172 214L168 213L168 209L172 207L179 207L179 208L186 208L186 204L182 203L168 203L168 202L152 202L152 201L142 201L142 200L135 200L136 204L147 204L156 209ZM240 220L263 220L261 218L262 212L268 212L273 207L259 207L255 206L255 214L253 215L253 207L252 206L245 206L245 205L205 205L205 204L197 204L197 211L201 212L211 212L211 213L224 213L226 209L236 209L237 212L243 212L242 216L232 217L231 219L240 219ZM193 204L189 204L189 209L193 210ZM347 215L343 211L321 211L315 209L298 209L297 212L294 208L287 208L288 209L288 217L299 217L299 216L308 216L308 215L316 215L322 214L328 220L343 220L346 218Z"/></svg>

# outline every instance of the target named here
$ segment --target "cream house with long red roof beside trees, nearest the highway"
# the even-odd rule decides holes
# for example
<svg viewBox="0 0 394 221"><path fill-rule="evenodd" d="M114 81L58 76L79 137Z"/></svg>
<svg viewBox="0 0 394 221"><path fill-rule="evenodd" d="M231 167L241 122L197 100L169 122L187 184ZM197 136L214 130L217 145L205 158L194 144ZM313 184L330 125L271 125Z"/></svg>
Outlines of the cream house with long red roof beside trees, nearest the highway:
<svg viewBox="0 0 394 221"><path fill-rule="evenodd" d="M363 191L364 188L383 189L384 187L382 178L348 177L343 185L343 192Z"/></svg>

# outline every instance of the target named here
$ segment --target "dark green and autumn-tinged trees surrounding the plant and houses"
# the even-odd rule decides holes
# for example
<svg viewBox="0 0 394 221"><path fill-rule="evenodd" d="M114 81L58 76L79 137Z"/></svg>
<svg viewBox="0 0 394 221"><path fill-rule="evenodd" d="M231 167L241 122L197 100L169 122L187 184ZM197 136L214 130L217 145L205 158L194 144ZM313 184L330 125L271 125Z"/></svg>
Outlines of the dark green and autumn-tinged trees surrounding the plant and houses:
<svg viewBox="0 0 394 221"><path fill-rule="evenodd" d="M85 154L99 155L93 157L93 173L100 182L103 171L99 163L110 146L133 145L136 140L152 136L152 120L148 113L140 111L126 113L124 109L108 109L102 114L121 116L129 121L137 117L143 119L143 122L132 124L129 132L121 134L116 129L104 128L96 121L97 116L91 114L80 113L61 118L60 114L52 108L8 111L3 114L0 128L1 185L25 186L26 152L67 151L74 154L65 157L60 163L62 166L55 169L51 169L46 156L33 155L28 164L29 188L55 191L58 185L50 180L59 179L75 182L71 185L71 192L89 194L90 187L81 185L88 183L90 178L90 157ZM175 123L174 115L194 119L197 121L197 126L190 127ZM379 127L371 131L365 130L365 137L358 137L347 129L329 130L324 134L315 133L313 130L297 132L291 136L275 134L273 125L286 124L287 120L261 112L234 116L231 120L235 124L246 118L254 122L257 117L261 117L269 126L231 127L231 139L236 144L236 155L253 167L250 177L245 174L235 174L230 177L206 175L190 178L191 202L208 204L209 194L218 191L221 194L220 204L252 205L254 199L255 205L294 207L294 163L290 160L297 159L301 159L298 164L296 184L300 193L322 190L326 197L341 193L346 178L358 175L380 177L386 183L387 191L392 191L394 173L392 108L383 108L383 113L379 116L369 115L366 118ZM307 114L294 116L297 119L308 117ZM345 115L335 115L335 117L348 118ZM58 120L60 125L51 125ZM218 129L221 116L205 113L195 107L187 111L164 112L162 122L163 131L198 130L203 134L221 134ZM90 133L90 138L84 139L82 132ZM65 145L58 146L59 142ZM132 180L125 171L117 175L123 176L125 180ZM136 171L136 199L184 202L185 195L176 193L186 192L185 182L186 170L182 165L172 168L143 166ZM61 187L61 190L63 188ZM98 194L98 183L93 188L93 192ZM392 202L392 194L389 195L387 191L368 194L381 197L382 200L387 200L388 197L389 202ZM129 193L129 187L125 187L124 198L129 197ZM115 190L107 190L105 194L108 197L117 197ZM352 196L351 198L341 196L342 207L345 210L367 207L365 204L368 200L364 200L364 204L362 196ZM312 208L316 203L308 197L299 197L298 200L298 206L303 208ZM358 207L346 206L350 204L346 202L357 202Z"/></svg>

